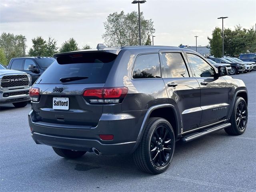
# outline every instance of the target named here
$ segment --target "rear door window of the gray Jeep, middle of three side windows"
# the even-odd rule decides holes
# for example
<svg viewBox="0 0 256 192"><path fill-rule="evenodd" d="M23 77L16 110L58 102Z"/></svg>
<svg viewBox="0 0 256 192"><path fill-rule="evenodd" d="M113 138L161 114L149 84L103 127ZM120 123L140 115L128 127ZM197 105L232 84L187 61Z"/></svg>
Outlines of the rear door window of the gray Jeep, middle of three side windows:
<svg viewBox="0 0 256 192"><path fill-rule="evenodd" d="M163 77L189 77L186 64L180 53L162 53L162 60L164 65Z"/></svg>

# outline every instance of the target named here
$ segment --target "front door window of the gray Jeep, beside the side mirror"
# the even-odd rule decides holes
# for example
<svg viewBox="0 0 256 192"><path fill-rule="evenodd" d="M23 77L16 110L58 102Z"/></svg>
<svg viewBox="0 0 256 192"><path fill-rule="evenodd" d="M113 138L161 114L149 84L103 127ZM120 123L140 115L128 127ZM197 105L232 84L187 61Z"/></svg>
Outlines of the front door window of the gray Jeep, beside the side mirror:
<svg viewBox="0 0 256 192"><path fill-rule="evenodd" d="M194 54L187 54L190 65L195 72L196 77L213 77L215 74L214 68L206 61Z"/></svg>

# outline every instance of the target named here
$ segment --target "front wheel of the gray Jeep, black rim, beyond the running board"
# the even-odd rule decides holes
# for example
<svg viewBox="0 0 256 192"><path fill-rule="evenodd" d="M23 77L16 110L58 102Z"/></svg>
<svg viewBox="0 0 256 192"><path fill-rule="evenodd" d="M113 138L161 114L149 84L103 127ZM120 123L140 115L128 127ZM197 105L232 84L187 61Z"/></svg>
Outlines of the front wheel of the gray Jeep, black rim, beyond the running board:
<svg viewBox="0 0 256 192"><path fill-rule="evenodd" d="M247 104L242 97L236 97L234 108L230 117L231 126L225 128L227 134L241 135L245 132L248 120Z"/></svg>

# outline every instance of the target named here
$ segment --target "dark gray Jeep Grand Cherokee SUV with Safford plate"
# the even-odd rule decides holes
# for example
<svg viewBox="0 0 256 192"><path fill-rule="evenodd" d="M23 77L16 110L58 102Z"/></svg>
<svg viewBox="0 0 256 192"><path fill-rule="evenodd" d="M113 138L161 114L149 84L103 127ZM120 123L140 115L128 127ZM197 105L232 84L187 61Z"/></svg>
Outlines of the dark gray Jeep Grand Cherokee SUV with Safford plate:
<svg viewBox="0 0 256 192"><path fill-rule="evenodd" d="M244 82L192 50L130 46L54 58L30 90L28 120L36 144L64 158L131 153L141 170L159 174L176 141L246 129Z"/></svg>

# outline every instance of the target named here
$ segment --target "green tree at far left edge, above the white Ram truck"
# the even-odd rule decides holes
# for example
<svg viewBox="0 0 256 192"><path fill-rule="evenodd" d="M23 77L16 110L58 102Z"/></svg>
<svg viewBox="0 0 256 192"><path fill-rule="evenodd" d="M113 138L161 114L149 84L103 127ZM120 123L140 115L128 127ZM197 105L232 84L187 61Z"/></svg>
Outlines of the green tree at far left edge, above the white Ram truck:
<svg viewBox="0 0 256 192"><path fill-rule="evenodd" d="M7 62L14 57L23 56L23 42L26 50L26 38L23 35L14 35L12 33L3 32L0 36L0 48L3 48Z"/></svg>

